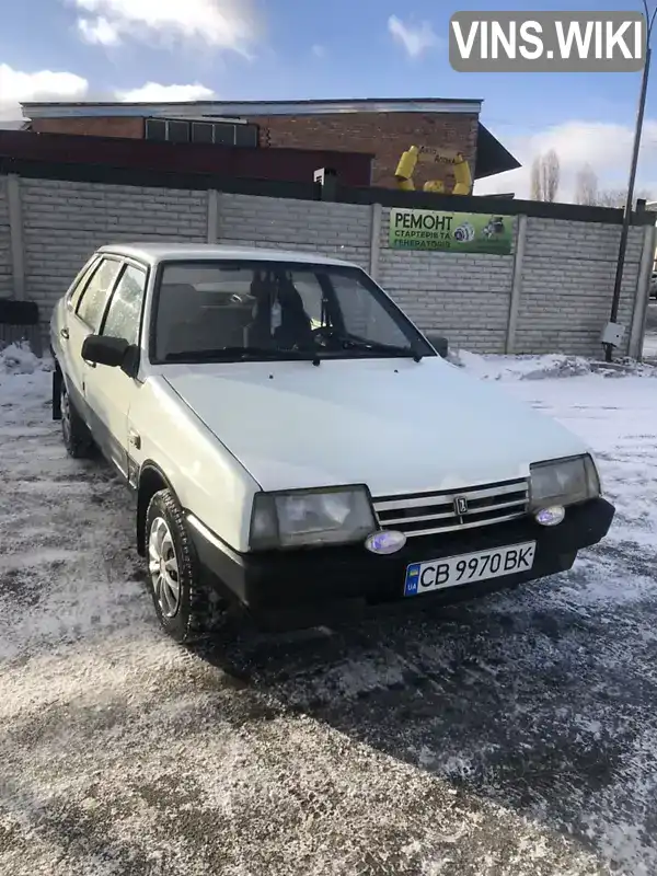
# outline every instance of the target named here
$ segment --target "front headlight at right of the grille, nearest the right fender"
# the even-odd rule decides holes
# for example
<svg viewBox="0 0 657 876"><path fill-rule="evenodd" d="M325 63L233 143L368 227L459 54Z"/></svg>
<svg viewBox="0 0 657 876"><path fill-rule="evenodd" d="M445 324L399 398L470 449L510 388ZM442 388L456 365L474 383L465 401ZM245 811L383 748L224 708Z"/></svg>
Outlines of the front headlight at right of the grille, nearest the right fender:
<svg viewBox="0 0 657 876"><path fill-rule="evenodd" d="M575 505L600 495L600 481L593 460L587 454L530 466L531 510L549 506Z"/></svg>

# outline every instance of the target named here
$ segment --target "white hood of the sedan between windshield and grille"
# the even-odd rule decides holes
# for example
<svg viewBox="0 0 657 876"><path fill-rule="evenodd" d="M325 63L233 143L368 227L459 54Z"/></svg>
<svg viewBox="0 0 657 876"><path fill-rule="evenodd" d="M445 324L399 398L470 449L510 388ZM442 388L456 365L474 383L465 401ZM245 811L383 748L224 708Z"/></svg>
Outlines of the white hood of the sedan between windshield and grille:
<svg viewBox="0 0 657 876"><path fill-rule="evenodd" d="M266 491L458 489L588 449L437 357L166 366L162 376Z"/></svg>

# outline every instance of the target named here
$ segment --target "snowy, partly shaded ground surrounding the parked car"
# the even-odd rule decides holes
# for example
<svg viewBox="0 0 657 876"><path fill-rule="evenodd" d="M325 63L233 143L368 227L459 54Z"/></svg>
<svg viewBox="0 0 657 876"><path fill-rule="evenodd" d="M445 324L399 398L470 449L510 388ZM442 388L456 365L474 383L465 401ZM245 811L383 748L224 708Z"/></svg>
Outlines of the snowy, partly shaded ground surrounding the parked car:
<svg viewBox="0 0 657 876"><path fill-rule="evenodd" d="M591 442L608 540L510 595L191 653L47 364L0 354L3 876L657 873L657 371L459 359Z"/></svg>

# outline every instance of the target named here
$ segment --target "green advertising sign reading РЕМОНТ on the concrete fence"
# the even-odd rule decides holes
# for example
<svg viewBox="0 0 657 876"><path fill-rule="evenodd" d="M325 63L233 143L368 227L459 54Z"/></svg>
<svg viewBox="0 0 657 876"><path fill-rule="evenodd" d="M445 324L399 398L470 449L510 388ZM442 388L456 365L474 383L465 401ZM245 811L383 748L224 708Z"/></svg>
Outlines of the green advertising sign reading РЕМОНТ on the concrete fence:
<svg viewBox="0 0 657 876"><path fill-rule="evenodd" d="M403 207L390 210L392 250L508 255L511 252L512 231L512 216L437 212Z"/></svg>

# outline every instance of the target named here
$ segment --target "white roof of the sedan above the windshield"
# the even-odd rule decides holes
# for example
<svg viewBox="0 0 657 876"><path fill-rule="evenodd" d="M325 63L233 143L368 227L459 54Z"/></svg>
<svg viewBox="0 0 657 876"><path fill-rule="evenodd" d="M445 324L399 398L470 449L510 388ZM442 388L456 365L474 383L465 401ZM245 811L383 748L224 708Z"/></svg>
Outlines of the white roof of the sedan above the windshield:
<svg viewBox="0 0 657 876"><path fill-rule="evenodd" d="M253 246L224 246L214 243L114 243L101 246L99 253L112 253L153 265L180 260L219 261L245 260L267 262L300 262L315 265L350 265L353 262L331 258L321 253L293 252L291 250L266 250Z"/></svg>

